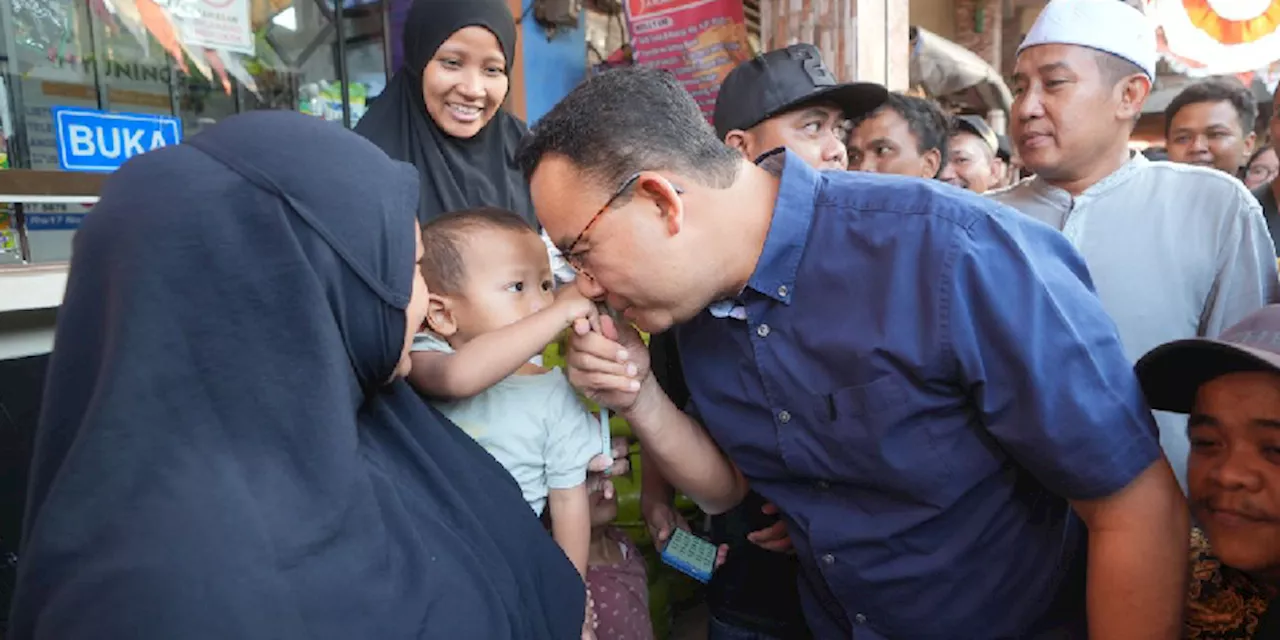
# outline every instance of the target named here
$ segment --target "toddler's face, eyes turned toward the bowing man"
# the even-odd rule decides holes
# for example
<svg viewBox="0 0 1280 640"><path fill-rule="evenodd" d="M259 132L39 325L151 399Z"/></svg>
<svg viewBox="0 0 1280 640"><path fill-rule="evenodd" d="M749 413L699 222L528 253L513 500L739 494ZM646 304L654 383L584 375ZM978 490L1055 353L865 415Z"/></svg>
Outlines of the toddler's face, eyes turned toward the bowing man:
<svg viewBox="0 0 1280 640"><path fill-rule="evenodd" d="M477 229L462 261L466 282L453 307L457 340L529 317L556 300L547 246L532 230Z"/></svg>

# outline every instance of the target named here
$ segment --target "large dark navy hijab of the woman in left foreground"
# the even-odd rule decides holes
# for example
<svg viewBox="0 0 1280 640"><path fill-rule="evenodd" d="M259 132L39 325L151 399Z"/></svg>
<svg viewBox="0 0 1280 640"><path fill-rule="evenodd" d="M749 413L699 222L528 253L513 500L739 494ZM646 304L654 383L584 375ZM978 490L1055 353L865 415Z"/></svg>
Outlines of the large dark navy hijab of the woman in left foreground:
<svg viewBox="0 0 1280 640"><path fill-rule="evenodd" d="M108 180L58 316L10 639L577 637L582 582L516 483L381 384L416 189L287 111Z"/></svg>

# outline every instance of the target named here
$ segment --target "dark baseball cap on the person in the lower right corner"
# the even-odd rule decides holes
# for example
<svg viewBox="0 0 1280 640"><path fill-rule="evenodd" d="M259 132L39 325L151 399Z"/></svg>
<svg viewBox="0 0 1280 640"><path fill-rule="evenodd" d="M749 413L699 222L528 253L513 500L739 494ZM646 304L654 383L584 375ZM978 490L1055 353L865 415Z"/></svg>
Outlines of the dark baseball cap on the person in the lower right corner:
<svg viewBox="0 0 1280 640"><path fill-rule="evenodd" d="M1244 316L1216 339L1161 344L1134 369L1151 408L1190 413L1201 385L1215 378L1244 371L1280 374L1280 305Z"/></svg>

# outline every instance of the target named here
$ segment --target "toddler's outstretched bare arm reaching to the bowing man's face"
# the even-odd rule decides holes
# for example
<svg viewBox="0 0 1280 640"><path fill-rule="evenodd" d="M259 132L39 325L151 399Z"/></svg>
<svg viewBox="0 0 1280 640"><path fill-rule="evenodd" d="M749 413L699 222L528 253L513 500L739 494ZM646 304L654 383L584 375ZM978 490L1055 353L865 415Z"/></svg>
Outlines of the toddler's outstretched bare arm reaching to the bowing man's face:
<svg viewBox="0 0 1280 640"><path fill-rule="evenodd" d="M573 320L595 312L595 305L566 287L549 307L468 340L453 353L415 351L408 381L433 398L470 398L516 372L529 358L567 329Z"/></svg>

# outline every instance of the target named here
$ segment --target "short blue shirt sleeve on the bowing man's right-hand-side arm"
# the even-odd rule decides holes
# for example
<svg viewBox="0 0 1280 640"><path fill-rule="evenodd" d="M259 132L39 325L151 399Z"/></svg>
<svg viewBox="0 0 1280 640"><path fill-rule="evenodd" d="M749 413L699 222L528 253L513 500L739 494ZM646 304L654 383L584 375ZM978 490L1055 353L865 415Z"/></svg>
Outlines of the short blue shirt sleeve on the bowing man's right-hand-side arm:
<svg viewBox="0 0 1280 640"><path fill-rule="evenodd" d="M1006 210L957 234L943 283L950 349L991 435L1068 499L1125 488L1162 456L1084 260Z"/></svg>

